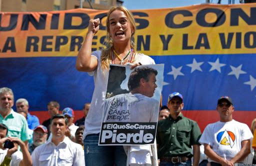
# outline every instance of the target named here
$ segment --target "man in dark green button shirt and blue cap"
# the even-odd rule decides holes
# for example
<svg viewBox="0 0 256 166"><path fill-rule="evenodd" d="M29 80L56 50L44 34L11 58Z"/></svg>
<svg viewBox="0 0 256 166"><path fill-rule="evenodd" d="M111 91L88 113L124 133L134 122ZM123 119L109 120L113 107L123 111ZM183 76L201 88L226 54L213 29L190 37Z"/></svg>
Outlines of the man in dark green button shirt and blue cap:
<svg viewBox="0 0 256 166"><path fill-rule="evenodd" d="M193 166L197 166L200 128L181 113L184 103L180 93L171 93L167 106L170 114L168 118L158 121L156 132L159 165L191 165L193 157Z"/></svg>

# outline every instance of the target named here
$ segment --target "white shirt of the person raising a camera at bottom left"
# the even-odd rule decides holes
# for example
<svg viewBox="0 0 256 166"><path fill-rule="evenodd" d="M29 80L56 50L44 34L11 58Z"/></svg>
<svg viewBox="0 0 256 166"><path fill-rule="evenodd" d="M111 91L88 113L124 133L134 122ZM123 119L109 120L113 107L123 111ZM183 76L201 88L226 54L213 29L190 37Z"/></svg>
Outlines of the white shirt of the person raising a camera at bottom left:
<svg viewBox="0 0 256 166"><path fill-rule="evenodd" d="M0 164L2 163L8 149L0 149ZM18 166L20 161L23 159L21 151L17 150L11 154L10 166Z"/></svg>

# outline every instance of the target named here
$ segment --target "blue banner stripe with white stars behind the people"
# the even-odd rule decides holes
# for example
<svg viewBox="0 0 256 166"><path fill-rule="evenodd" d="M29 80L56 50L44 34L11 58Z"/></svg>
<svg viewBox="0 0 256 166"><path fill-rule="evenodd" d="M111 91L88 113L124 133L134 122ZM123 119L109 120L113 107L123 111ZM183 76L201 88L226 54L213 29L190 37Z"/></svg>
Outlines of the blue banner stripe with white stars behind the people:
<svg viewBox="0 0 256 166"><path fill-rule="evenodd" d="M255 110L255 54L151 56L164 63L163 104L173 91L182 93L184 110L214 110L217 98L228 95L235 110ZM0 58L0 87L26 98L30 110L47 110L57 100L61 109L79 110L90 102L93 77L75 69L76 57ZM15 109L15 108L14 108Z"/></svg>

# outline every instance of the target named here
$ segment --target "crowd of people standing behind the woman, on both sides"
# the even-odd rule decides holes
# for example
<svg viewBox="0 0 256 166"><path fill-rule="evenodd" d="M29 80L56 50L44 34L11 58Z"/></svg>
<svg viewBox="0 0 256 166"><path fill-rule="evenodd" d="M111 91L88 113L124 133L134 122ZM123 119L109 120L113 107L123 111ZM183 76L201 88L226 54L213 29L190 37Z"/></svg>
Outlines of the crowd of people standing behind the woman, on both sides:
<svg viewBox="0 0 256 166"><path fill-rule="evenodd" d="M81 121L86 119L90 103L84 104L84 117L75 125L72 108L66 107L60 114L58 102L50 101L48 112L51 118L45 126L39 124L36 116L27 115L26 99L17 99L16 111L12 109L13 100L11 89L0 88L0 165L85 164L84 151L90 149L83 148L84 125ZM156 132L159 165L233 166L242 163L249 154L252 157L246 163L255 163L256 119L250 129L232 119L234 106L230 97L221 96L217 100L219 121L208 124L202 134L195 121L182 115L183 106L183 96L173 92L168 96L167 105L159 110ZM48 119L43 123L46 121ZM29 128L28 124L35 127ZM8 142L12 146L6 145Z"/></svg>

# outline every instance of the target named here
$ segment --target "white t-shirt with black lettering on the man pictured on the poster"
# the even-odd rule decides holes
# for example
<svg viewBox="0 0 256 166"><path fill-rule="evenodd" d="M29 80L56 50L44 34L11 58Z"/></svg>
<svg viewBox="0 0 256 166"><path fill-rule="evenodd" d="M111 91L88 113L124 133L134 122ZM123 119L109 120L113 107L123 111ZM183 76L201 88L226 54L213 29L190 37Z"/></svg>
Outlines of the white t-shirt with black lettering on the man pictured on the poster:
<svg viewBox="0 0 256 166"><path fill-rule="evenodd" d="M104 122L157 122L159 102L139 93L115 95L104 106Z"/></svg>

